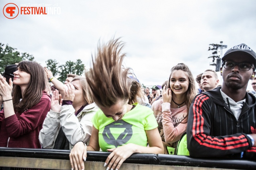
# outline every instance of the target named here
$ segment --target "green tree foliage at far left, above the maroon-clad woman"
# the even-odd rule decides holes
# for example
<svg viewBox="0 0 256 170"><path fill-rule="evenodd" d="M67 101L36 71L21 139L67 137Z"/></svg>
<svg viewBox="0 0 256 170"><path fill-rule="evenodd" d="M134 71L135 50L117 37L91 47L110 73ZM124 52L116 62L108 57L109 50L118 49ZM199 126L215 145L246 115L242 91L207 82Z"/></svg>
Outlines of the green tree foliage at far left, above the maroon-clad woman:
<svg viewBox="0 0 256 170"><path fill-rule="evenodd" d="M18 63L22 60L34 61L34 57L28 53L20 53L16 48L8 44L0 43L0 73L2 74L5 66Z"/></svg>

